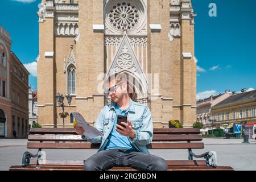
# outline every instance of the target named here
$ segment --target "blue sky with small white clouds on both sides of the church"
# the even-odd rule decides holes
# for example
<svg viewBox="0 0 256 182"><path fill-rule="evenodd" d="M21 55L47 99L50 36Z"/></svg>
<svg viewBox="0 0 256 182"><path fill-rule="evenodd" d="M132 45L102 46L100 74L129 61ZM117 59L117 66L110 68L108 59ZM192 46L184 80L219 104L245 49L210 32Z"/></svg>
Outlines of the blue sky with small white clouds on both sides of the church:
<svg viewBox="0 0 256 182"><path fill-rule="evenodd" d="M37 88L38 4L40 0L1 0L0 25L11 34L12 51L31 72ZM210 17L210 3L217 17ZM192 0L198 98L242 88L256 88L256 1Z"/></svg>

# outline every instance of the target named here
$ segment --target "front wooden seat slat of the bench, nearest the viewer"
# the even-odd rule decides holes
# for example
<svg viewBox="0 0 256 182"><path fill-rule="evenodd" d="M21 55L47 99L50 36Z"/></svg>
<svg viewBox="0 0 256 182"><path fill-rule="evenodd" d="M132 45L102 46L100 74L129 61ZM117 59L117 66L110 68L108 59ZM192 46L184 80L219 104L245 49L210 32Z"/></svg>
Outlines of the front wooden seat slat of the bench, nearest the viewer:
<svg viewBox="0 0 256 182"><path fill-rule="evenodd" d="M10 171L83 171L82 166L40 166L22 167L11 166ZM113 167L110 171L137 171L131 167ZM233 171L232 167L218 166L217 168L206 166L168 166L168 171Z"/></svg>

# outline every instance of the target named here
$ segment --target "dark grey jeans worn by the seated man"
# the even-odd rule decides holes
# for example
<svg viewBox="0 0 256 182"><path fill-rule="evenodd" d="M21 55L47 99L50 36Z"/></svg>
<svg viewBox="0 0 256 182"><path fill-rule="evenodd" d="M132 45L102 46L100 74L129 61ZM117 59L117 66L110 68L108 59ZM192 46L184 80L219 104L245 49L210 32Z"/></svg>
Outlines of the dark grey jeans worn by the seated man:
<svg viewBox="0 0 256 182"><path fill-rule="evenodd" d="M85 171L105 171L112 167L133 167L142 171L166 171L167 163L159 156L122 148L102 150L84 161Z"/></svg>

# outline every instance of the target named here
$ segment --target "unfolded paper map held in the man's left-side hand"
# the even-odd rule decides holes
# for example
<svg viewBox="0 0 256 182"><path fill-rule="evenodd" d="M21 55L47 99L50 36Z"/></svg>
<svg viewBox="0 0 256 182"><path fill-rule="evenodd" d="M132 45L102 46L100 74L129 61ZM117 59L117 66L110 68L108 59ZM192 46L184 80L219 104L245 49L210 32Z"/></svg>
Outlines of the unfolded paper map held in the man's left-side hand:
<svg viewBox="0 0 256 182"><path fill-rule="evenodd" d="M82 127L84 129L84 135L86 139L92 139L94 137L98 137L100 135L103 135L99 130L97 130L95 127L90 126L89 123L85 121L85 119L82 117L79 113L71 113L73 115L73 118L76 120L76 123L79 127Z"/></svg>

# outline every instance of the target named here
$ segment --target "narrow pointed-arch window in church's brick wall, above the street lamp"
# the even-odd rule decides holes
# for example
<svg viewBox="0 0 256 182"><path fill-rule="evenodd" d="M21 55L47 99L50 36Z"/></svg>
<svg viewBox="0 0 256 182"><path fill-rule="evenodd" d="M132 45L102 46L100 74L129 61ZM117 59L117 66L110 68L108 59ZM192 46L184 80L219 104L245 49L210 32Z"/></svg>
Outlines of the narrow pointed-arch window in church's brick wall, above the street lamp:
<svg viewBox="0 0 256 182"><path fill-rule="evenodd" d="M76 68L71 65L67 73L68 94L76 94Z"/></svg>

